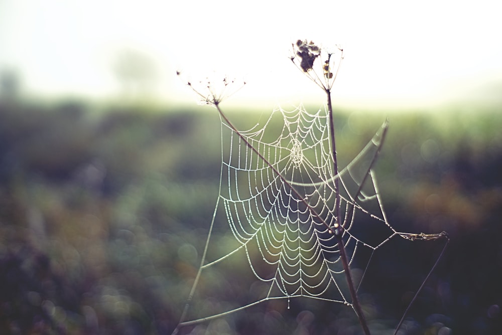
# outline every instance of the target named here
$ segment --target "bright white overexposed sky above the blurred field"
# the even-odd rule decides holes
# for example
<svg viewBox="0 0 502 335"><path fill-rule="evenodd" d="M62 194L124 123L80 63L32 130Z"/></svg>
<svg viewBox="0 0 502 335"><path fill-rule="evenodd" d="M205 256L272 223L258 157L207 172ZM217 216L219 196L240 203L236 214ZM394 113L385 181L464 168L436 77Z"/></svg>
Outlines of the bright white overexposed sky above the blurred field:
<svg viewBox="0 0 502 335"><path fill-rule="evenodd" d="M117 53L135 49L155 62L164 100L193 99L177 69L244 78L237 101L322 98L288 59L301 38L345 50L335 101L410 105L502 79L497 3L0 0L0 69L31 94L106 98L120 91Z"/></svg>

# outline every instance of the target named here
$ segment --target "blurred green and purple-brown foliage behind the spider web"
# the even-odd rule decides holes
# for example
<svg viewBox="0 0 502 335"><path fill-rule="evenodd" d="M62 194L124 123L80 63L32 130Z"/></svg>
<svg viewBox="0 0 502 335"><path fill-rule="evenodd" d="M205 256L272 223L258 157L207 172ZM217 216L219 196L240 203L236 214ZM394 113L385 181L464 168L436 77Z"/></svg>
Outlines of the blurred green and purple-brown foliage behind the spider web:
<svg viewBox="0 0 502 335"><path fill-rule="evenodd" d="M343 164L383 115L337 112ZM259 118L229 116L238 125ZM376 176L391 224L451 237L400 333L500 333L500 108L389 118ZM209 108L0 102L0 333L171 333L200 262L220 157L219 119ZM213 239L222 250L234 243L223 230ZM374 334L397 324L441 245L398 242L382 249L361 287ZM201 299L201 311L242 305L263 290L245 259L204 276L200 285L219 294ZM292 300L287 309L286 303L267 302L183 331L360 332L344 306Z"/></svg>

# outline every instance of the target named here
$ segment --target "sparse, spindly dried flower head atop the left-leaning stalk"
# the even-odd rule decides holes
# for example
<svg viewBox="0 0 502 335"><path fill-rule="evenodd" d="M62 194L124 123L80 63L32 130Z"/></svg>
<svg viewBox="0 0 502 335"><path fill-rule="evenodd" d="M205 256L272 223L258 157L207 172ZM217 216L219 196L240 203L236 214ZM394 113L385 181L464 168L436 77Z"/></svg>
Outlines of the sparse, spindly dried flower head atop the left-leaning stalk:
<svg viewBox="0 0 502 335"><path fill-rule="evenodd" d="M176 71L176 75L180 77L181 71ZM246 84L244 81L237 82L227 76L222 77L222 80L212 80L206 77L205 80L197 82L190 80L185 80L185 82L201 98L200 104L216 107L224 98L233 95ZM239 86L235 87L235 85Z"/></svg>

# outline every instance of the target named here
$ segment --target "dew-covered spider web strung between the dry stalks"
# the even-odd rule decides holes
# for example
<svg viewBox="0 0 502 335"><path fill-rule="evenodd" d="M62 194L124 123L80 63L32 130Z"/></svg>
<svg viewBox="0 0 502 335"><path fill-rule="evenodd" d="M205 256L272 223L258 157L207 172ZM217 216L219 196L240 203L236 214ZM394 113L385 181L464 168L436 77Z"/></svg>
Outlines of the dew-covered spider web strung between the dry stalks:
<svg viewBox="0 0 502 335"><path fill-rule="evenodd" d="M301 105L291 111L277 107L263 126L239 131L240 135L221 119L220 191L206 250L216 212L221 209L236 247L213 260L205 260L204 252L199 275L243 250L249 269L267 289L265 296L247 305L182 324L222 316L269 299L287 298L288 307L294 297L352 306L338 239L333 234L337 195L349 265L364 249L370 257L358 266L366 268L373 252L395 236L433 238L398 233L388 223L371 171L387 121L338 174L333 171L328 125L326 110L311 114Z"/></svg>

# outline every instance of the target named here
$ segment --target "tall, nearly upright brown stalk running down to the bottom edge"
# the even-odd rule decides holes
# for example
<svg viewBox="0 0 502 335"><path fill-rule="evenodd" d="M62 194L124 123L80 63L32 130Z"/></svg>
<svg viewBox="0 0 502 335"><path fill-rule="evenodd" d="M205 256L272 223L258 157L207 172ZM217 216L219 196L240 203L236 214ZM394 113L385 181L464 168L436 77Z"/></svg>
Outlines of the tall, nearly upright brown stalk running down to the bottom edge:
<svg viewBox="0 0 502 335"><path fill-rule="evenodd" d="M333 120L333 106L331 104L331 91L329 88L326 88L326 95L328 99L328 114L329 114L329 128L331 135L331 150L333 155L333 173L338 175L338 164L336 159L336 144L335 144L335 129L334 129L334 120ZM352 298L352 306L359 318L359 323L361 324L362 329L364 330L364 334L370 335L368 325L366 323L366 319L364 318L364 313L362 312L361 305L359 303L359 299L357 298L357 292L354 288L354 282L352 281L352 275L350 273L350 267L348 266L347 253L345 252L345 245L343 244L343 227L340 220L340 192L338 188L338 178L335 178L335 236L338 240L338 249L340 250L340 259L343 264L343 270L345 271L345 278L347 280L348 289L350 292L350 297Z"/></svg>

